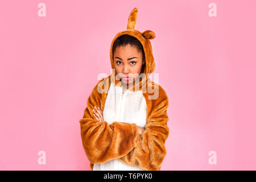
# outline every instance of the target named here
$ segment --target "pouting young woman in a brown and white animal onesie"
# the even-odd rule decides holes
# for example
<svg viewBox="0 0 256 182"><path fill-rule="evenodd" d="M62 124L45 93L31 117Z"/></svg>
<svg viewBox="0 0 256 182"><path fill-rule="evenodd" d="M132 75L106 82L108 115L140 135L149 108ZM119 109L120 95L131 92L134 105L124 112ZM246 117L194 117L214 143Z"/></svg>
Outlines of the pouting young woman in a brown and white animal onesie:
<svg viewBox="0 0 256 182"><path fill-rule="evenodd" d="M80 119L92 170L160 170L168 138L168 97L152 82L154 32L135 30L138 9L110 47L112 73L92 90Z"/></svg>

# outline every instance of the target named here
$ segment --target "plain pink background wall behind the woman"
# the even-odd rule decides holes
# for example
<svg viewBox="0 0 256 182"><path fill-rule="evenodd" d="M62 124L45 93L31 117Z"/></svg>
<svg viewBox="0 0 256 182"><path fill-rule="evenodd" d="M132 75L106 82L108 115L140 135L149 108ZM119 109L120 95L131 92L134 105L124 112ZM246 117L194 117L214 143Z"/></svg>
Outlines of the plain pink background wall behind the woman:
<svg viewBox="0 0 256 182"><path fill-rule="evenodd" d="M212 2L217 17L208 15ZM90 170L79 119L98 75L110 74L112 39L138 7L135 28L156 34L155 73L170 100L162 170L255 170L255 6L1 1L0 169ZM38 164L41 150L46 165Z"/></svg>

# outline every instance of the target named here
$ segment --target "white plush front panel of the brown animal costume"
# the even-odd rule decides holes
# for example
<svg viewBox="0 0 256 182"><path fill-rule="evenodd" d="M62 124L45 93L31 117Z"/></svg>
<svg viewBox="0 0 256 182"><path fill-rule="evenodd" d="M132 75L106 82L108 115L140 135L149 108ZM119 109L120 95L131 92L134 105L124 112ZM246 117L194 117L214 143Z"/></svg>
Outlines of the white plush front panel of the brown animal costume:
<svg viewBox="0 0 256 182"><path fill-rule="evenodd" d="M109 125L117 121L135 123L139 127L146 127L146 112L146 100L141 90L137 92L126 90L122 94L121 87L115 86L113 82L110 84L103 111L104 121L108 122ZM94 164L93 170L143 171L144 169L127 165L118 159L113 159L106 163Z"/></svg>

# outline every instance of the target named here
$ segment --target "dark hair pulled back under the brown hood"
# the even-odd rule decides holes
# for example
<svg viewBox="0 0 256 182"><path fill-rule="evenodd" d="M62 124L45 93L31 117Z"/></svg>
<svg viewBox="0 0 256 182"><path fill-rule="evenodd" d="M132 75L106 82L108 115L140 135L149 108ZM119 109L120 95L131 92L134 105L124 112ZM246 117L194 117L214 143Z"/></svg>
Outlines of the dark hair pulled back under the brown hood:
<svg viewBox="0 0 256 182"><path fill-rule="evenodd" d="M131 46L137 47L137 49L142 52L142 60L145 60L145 53L144 53L144 49L143 49L143 46L142 46L141 42L139 42L139 40L136 39L135 37L130 36L130 35L126 35L126 34L119 36L115 40L115 42L113 44L113 48L112 48L113 56L114 56L115 49L117 47L126 46L127 44L130 44Z"/></svg>

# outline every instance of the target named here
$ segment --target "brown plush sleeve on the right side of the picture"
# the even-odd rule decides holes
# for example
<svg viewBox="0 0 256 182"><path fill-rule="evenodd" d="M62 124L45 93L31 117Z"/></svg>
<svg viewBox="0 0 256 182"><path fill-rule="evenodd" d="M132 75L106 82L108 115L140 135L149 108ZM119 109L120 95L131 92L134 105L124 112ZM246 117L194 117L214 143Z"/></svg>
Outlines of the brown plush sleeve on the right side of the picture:
<svg viewBox="0 0 256 182"><path fill-rule="evenodd" d="M148 171L160 171L161 164L166 156L164 143L169 135L167 126L169 120L167 115L168 97L161 88L159 89L159 98L147 102L146 129L137 138L137 146L119 160Z"/></svg>

